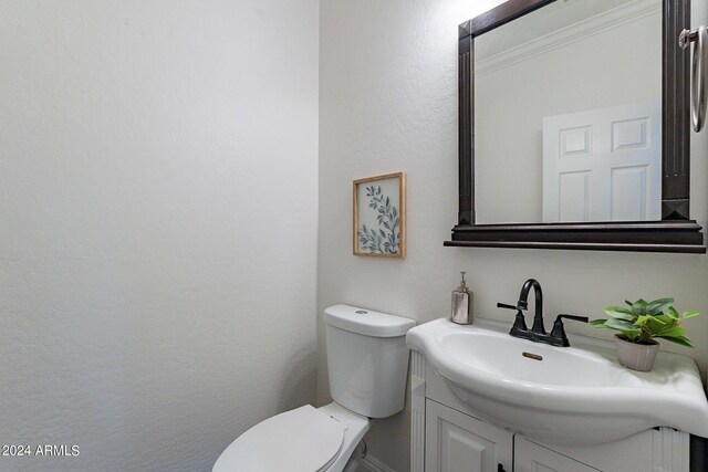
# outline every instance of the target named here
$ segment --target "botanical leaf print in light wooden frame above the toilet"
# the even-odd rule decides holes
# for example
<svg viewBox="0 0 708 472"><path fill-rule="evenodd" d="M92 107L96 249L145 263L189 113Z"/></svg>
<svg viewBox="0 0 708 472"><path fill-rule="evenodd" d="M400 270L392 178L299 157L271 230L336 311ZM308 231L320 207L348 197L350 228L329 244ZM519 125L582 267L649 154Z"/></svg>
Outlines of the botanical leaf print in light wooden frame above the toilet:
<svg viewBox="0 0 708 472"><path fill-rule="evenodd" d="M354 255L406 256L406 175L354 180Z"/></svg>

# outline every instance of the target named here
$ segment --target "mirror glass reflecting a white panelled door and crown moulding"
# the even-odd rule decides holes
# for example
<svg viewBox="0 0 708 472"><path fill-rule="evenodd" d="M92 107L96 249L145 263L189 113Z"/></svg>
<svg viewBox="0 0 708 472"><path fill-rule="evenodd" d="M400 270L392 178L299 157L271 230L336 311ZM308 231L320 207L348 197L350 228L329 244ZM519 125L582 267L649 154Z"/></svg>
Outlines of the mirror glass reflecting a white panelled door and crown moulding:
<svg viewBox="0 0 708 472"><path fill-rule="evenodd" d="M660 0L559 0L473 70L478 224L662 219Z"/></svg>

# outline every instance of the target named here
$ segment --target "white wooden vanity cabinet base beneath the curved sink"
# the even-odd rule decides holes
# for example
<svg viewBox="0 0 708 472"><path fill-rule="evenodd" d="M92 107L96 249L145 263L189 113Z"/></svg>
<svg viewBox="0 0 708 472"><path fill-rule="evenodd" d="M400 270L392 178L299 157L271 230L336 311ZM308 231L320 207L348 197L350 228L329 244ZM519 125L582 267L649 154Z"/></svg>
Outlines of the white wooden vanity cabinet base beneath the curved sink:
<svg viewBox="0 0 708 472"><path fill-rule="evenodd" d="M593 445L544 444L499 428L412 354L412 472L693 472L689 434L671 428Z"/></svg>

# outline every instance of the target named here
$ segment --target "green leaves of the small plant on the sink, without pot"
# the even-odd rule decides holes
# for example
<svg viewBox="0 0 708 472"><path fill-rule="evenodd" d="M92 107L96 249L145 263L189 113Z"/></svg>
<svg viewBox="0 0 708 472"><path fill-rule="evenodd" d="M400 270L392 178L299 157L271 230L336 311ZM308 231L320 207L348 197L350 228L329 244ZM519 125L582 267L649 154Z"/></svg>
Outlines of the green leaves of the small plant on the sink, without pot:
<svg viewBox="0 0 708 472"><path fill-rule="evenodd" d="M590 325L596 328L610 328L622 332L623 338L636 344L654 344L655 337L694 347L690 340L684 336L686 328L680 322L700 312L689 310L679 314L674 308L674 298L658 298L652 302L637 300L627 302L624 306L607 306L604 312L610 318L593 319Z"/></svg>

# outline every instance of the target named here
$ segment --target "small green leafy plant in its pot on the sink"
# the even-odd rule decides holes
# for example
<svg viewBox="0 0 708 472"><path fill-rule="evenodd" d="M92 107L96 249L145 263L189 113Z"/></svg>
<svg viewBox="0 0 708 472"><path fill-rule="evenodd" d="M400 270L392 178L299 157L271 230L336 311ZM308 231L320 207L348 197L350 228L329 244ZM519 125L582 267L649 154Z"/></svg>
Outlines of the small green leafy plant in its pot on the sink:
<svg viewBox="0 0 708 472"><path fill-rule="evenodd" d="M627 302L624 306L607 306L604 312L607 319L593 319L590 325L596 328L616 329L615 335L620 364L634 369L648 371L659 349L656 338L670 340L681 346L693 347L680 326L683 319L700 315L695 310L679 314L674 308L674 298L658 298L646 302L642 298Z"/></svg>

